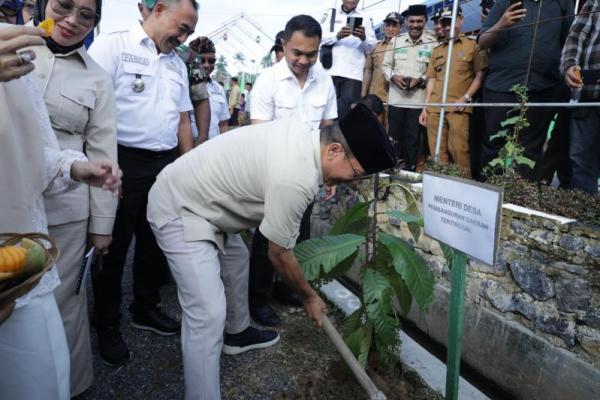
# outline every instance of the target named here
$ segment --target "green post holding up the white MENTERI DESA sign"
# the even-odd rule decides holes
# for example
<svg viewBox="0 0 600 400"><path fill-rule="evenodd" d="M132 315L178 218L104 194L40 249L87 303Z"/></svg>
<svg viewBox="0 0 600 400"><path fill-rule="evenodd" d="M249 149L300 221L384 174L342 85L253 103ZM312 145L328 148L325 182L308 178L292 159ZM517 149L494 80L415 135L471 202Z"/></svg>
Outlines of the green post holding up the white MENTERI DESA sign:
<svg viewBox="0 0 600 400"><path fill-rule="evenodd" d="M465 281L467 256L454 249L452 256L452 283L450 287L450 315L448 317L448 356L446 358L446 399L458 400L460 380L460 352L465 315Z"/></svg>

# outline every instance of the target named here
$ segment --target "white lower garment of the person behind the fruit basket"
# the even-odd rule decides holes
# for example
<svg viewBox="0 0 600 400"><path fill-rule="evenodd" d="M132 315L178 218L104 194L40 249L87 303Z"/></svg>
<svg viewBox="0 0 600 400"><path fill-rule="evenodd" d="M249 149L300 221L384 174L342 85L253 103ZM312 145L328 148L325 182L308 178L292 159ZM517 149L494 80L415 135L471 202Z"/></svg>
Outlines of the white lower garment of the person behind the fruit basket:
<svg viewBox="0 0 600 400"><path fill-rule="evenodd" d="M0 399L70 399L69 349L52 293L0 325Z"/></svg>

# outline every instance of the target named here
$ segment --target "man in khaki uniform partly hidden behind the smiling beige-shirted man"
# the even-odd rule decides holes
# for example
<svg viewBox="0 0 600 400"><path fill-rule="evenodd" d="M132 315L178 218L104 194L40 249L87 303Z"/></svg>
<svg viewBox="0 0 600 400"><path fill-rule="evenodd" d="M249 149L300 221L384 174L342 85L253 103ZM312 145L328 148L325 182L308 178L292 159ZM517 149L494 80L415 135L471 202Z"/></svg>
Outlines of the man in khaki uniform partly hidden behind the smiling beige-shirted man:
<svg viewBox="0 0 600 400"><path fill-rule="evenodd" d="M365 97L368 94L374 94L381 101L387 101L390 83L383 76L383 57L390 42L398 36L402 29L402 16L397 12L389 13L383 20L383 32L385 37L377 43L377 47L371 53L367 54L365 63L365 74L363 77L363 87L360 97ZM387 107L385 112L387 119Z"/></svg>

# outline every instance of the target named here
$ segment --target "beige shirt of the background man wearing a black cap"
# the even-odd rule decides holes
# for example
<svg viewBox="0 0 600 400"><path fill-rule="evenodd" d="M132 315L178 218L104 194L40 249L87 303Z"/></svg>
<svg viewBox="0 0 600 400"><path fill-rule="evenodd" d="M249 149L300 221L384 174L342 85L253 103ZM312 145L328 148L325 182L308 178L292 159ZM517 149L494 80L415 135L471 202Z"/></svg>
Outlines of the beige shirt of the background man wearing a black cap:
<svg viewBox="0 0 600 400"><path fill-rule="evenodd" d="M403 75L413 79L425 79L431 51L437 45L437 40L429 32L424 31L419 39L412 41L408 33L404 33L392 41L383 58L383 75L391 82L392 76ZM408 106L409 103L425 101L425 85L413 90L402 90L390 83L388 104L394 107L422 108Z"/></svg>

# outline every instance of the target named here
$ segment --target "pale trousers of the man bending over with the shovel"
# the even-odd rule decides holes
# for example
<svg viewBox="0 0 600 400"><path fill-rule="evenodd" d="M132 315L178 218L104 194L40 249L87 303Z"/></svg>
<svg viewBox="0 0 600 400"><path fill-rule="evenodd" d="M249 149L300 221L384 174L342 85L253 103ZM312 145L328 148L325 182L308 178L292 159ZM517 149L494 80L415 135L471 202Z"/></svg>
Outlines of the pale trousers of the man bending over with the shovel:
<svg viewBox="0 0 600 400"><path fill-rule="evenodd" d="M218 400L223 329L239 333L250 325L248 249L240 235L227 236L225 252L210 241L186 242L181 219L161 229L150 226L169 262L183 309L185 398Z"/></svg>

